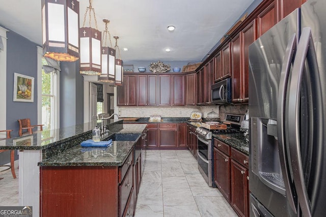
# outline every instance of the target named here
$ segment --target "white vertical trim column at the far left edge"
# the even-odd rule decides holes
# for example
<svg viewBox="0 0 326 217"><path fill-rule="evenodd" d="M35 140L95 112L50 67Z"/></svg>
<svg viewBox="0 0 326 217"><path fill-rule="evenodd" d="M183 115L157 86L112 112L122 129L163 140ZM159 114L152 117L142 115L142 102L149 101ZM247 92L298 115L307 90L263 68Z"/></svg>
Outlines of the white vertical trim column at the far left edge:
<svg viewBox="0 0 326 217"><path fill-rule="evenodd" d="M0 38L4 44L4 50L0 50L0 95L5 106L0 106L0 129L6 130L6 101L7 101L7 32L0 26ZM11 84L13 85L13 84ZM4 136L6 134L4 133ZM2 136L1 136L2 137Z"/></svg>

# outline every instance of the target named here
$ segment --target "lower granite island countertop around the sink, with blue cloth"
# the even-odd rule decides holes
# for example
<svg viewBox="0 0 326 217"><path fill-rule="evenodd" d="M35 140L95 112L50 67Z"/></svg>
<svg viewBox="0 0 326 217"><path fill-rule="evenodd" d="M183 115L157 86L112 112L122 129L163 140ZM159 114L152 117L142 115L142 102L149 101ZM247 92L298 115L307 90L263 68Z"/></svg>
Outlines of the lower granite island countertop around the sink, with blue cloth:
<svg viewBox="0 0 326 217"><path fill-rule="evenodd" d="M110 147L81 147L76 145L52 158L43 160L38 166L121 166L132 151L133 145L146 128L145 124L123 124L123 129L116 134L126 134L129 140L130 134L139 134L132 141L113 141Z"/></svg>

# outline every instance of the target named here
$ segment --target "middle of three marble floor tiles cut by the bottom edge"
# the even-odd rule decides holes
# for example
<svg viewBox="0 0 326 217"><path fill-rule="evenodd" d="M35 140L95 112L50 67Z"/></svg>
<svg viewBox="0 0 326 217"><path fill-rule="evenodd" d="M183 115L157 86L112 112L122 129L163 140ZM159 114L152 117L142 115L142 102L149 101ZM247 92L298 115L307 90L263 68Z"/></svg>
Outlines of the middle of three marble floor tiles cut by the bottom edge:
<svg viewBox="0 0 326 217"><path fill-rule="evenodd" d="M164 217L200 217L197 206L164 206Z"/></svg>

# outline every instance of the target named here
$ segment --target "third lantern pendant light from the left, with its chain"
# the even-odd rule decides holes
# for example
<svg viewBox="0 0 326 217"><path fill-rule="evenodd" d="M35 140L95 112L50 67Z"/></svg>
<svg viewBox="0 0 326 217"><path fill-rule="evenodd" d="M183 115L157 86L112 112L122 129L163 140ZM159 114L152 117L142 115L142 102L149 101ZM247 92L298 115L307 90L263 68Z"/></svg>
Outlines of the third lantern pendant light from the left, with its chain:
<svg viewBox="0 0 326 217"><path fill-rule="evenodd" d="M105 30L103 32L101 47L102 73L98 76L98 80L102 82L114 83L116 71L116 50L112 48L111 35L107 27L107 24L110 23L110 20L103 19L103 22L105 23ZM110 40L110 47L106 46L107 37Z"/></svg>

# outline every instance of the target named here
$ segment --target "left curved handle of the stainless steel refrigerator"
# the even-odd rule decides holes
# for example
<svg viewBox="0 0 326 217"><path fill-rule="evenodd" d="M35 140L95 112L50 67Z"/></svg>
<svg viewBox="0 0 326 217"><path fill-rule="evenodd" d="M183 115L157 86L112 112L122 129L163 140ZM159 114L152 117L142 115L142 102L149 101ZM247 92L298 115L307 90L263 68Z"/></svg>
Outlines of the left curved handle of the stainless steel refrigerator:
<svg viewBox="0 0 326 217"><path fill-rule="evenodd" d="M288 80L290 74L290 68L293 61L294 53L296 50L296 35L293 34L289 39L285 56L282 65L279 91L278 91L278 102L277 102L277 136L278 136L278 146L280 153L280 163L284 180L285 192L287 195L287 200L289 202L290 207L296 213L296 202L294 201L294 187L291 180L290 175L290 163L287 158L286 151L286 133L285 133L285 105L286 105L286 93L288 88Z"/></svg>

